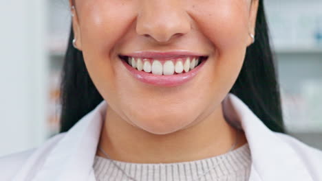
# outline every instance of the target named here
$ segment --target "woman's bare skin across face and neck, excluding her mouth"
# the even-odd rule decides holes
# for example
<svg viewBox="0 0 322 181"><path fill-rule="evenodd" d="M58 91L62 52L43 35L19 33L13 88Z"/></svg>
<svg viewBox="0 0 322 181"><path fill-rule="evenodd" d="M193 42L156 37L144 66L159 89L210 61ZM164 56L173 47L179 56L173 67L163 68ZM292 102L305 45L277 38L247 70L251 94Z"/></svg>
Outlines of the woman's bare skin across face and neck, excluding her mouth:
<svg viewBox="0 0 322 181"><path fill-rule="evenodd" d="M209 158L247 143L224 119L255 34L259 0L69 0L76 46L107 101L99 145L124 162ZM118 58L134 51L208 55L193 80L175 87L139 82ZM101 152L98 156L105 157Z"/></svg>

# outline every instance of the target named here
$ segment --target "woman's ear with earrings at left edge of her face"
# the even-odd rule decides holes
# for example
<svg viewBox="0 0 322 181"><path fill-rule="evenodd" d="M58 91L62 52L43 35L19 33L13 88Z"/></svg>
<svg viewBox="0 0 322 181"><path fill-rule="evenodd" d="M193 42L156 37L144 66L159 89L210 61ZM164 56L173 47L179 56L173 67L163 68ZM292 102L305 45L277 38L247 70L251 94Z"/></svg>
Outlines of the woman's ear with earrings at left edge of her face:
<svg viewBox="0 0 322 181"><path fill-rule="evenodd" d="M76 39L76 47L78 50L82 51L82 40L81 40L81 30L79 27L79 22L78 22L78 13L77 13L77 8L76 8L76 3L74 3L74 0L69 0L69 8L71 11L72 16L72 28L74 30L74 38ZM74 8L72 6L74 5Z"/></svg>

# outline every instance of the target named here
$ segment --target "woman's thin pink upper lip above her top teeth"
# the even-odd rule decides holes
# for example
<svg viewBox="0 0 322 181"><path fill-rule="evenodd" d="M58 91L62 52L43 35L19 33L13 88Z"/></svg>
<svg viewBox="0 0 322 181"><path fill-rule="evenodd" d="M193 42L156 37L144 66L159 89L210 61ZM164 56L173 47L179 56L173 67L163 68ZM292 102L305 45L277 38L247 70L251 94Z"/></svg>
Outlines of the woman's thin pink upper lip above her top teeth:
<svg viewBox="0 0 322 181"><path fill-rule="evenodd" d="M180 58L180 57L200 57L206 56L202 53L195 53L192 51L136 51L133 53L121 54L120 56L129 56L133 58L159 58L159 59L167 59L167 58Z"/></svg>

